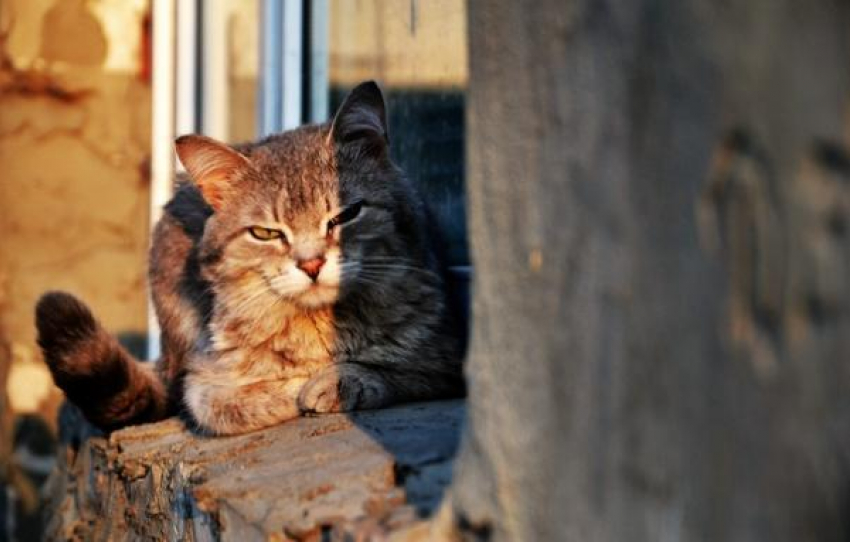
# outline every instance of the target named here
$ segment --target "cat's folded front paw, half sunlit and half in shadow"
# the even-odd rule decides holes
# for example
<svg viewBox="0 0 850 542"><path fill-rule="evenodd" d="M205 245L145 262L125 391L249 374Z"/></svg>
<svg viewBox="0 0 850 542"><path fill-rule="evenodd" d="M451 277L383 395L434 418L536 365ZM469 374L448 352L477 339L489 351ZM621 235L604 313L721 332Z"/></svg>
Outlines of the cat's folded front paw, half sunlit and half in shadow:
<svg viewBox="0 0 850 542"><path fill-rule="evenodd" d="M301 412L348 412L379 408L390 401L384 380L353 364L328 367L304 384L298 396Z"/></svg>

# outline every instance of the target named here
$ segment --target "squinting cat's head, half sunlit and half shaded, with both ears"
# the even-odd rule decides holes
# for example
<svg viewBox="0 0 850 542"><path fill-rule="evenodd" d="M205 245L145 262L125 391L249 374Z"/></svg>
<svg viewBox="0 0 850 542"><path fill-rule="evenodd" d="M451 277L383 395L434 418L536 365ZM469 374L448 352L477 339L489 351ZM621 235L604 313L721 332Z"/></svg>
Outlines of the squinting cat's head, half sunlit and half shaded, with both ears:
<svg viewBox="0 0 850 542"><path fill-rule="evenodd" d="M328 306L356 285L380 285L364 262L374 268L409 250L417 204L389 159L372 82L328 124L238 148L197 135L176 147L214 210L200 246L204 275L243 312Z"/></svg>

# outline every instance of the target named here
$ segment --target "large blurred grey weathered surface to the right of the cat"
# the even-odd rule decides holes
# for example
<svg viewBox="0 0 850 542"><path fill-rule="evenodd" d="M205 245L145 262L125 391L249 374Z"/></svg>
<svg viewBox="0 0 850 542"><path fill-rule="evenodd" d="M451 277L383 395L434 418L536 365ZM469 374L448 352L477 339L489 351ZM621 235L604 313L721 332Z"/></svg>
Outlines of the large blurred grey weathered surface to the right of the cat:
<svg viewBox="0 0 850 542"><path fill-rule="evenodd" d="M850 537L850 5L474 0L469 538Z"/></svg>

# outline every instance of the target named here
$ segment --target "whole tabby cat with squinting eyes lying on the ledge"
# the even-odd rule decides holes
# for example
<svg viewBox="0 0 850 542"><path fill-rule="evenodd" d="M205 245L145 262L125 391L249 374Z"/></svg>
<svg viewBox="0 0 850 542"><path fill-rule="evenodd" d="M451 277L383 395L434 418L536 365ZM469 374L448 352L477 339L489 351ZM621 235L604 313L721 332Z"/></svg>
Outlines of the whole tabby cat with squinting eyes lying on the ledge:
<svg viewBox="0 0 850 542"><path fill-rule="evenodd" d="M390 159L374 82L330 123L175 146L189 179L150 251L161 358L136 362L70 294L36 306L53 378L92 423L110 431L182 412L228 435L464 393L464 326L441 241Z"/></svg>

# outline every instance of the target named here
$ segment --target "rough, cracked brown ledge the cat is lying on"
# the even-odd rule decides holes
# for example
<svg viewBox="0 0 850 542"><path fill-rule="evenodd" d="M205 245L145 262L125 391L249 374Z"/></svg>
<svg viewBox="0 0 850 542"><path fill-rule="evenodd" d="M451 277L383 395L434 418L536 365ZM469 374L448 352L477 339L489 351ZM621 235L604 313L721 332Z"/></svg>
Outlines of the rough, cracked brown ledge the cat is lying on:
<svg viewBox="0 0 850 542"><path fill-rule="evenodd" d="M224 438L176 419L108 438L66 434L47 537L377 539L438 505L463 412L461 401L419 403Z"/></svg>

